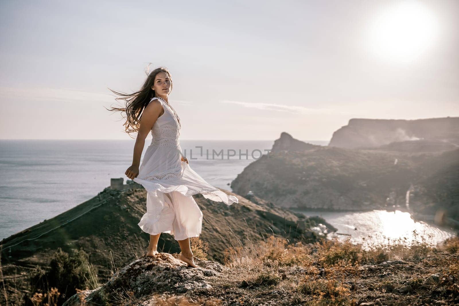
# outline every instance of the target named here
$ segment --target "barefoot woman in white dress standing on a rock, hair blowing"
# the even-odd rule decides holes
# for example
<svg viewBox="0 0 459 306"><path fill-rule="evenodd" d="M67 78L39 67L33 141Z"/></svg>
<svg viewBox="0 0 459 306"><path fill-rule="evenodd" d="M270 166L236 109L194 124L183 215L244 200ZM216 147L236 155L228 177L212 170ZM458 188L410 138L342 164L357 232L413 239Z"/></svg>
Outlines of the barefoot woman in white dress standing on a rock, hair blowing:
<svg viewBox="0 0 459 306"><path fill-rule="evenodd" d="M111 110L126 113L126 132L137 132L132 165L125 174L147 190L146 213L139 222L139 227L150 234L146 255L158 254L159 236L166 232L178 241L180 259L196 267L189 238L201 234L202 212L192 195L201 193L227 205L238 203L238 199L213 187L190 168L179 144L180 119L168 100L172 87L168 69L156 68L148 74L140 91L131 95L113 91L124 96L117 99L126 100L127 104L126 108ZM140 165L150 131L153 139Z"/></svg>

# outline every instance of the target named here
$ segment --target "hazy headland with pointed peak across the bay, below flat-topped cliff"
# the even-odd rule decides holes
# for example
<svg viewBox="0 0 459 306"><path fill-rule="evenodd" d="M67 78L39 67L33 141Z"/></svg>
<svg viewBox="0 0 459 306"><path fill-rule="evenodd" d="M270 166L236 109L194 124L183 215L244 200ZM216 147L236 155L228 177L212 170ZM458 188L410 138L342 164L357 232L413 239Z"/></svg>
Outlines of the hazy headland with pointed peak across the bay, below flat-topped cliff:
<svg viewBox="0 0 459 306"><path fill-rule="evenodd" d="M284 132L276 143L286 143L282 138L291 136ZM406 208L410 191L411 209L431 214L442 207L457 218L458 165L457 148L412 153L295 142L247 165L231 187L283 207L319 210Z"/></svg>

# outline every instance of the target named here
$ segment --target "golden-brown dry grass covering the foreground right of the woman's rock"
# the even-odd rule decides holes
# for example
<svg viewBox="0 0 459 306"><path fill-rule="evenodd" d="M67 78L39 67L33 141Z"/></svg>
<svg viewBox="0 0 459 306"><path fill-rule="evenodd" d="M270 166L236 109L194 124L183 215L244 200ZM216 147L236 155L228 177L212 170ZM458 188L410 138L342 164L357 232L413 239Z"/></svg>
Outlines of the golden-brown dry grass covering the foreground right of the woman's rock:
<svg viewBox="0 0 459 306"><path fill-rule="evenodd" d="M225 250L224 262L233 269L245 272L241 277L235 277L229 286L238 286L241 282L243 286L239 287L264 286L269 290L286 289L290 291L292 304L357 305L358 299L355 298L355 293L351 292L349 280L360 278L362 273L360 267L363 265L377 265L383 261L403 259L427 271L427 268L422 265L436 259L435 252L438 249L429 244L430 237L418 238L421 239L411 244L407 244L406 240L401 238L392 241L391 244L372 245L365 249L362 245L352 244L350 240L321 240L312 245L303 245L301 242L289 244L285 238L270 236L257 244L248 240L249 244L245 245L237 239L239 245L233 245ZM444 243L444 249L450 253L457 253L459 239L457 237L448 239ZM427 259L427 255L432 257ZM416 261L421 262L416 263ZM438 261L432 266L444 265L444 258L438 257ZM304 277L299 282L297 280L289 282L288 279L283 281L282 279L286 278L285 273L281 279L278 274L286 271L287 267L306 271ZM446 287L443 286L442 290L459 293L458 279L459 262L454 262L444 269L437 283L431 283L430 289L438 290L438 286L443 284ZM379 284L373 283L369 287L370 289L381 288L384 282L387 281L381 279ZM409 284L414 289L429 289L428 281L424 281L424 278L412 278ZM309 300L304 300L305 296L308 296Z"/></svg>

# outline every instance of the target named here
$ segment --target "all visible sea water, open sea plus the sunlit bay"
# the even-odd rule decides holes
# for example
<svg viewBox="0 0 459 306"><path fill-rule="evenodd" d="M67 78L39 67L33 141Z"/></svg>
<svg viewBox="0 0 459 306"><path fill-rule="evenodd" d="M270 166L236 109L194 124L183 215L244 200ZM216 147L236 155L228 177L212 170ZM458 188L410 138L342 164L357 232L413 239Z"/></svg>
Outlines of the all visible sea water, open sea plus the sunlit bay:
<svg viewBox="0 0 459 306"><path fill-rule="evenodd" d="M304 142L326 146L329 141ZM0 239L94 197L110 186L111 178L124 178L126 183L129 178L124 173L132 163L134 143L134 139L0 140ZM190 167L211 185L229 191L231 181L248 164L268 153L273 144L263 140L180 141ZM148 145L147 138L143 153ZM409 213L401 211L392 215L380 210L303 213L322 215L338 232L351 235L341 237L351 237L356 243L368 236L401 238L413 230L433 235L435 241L454 235L452 229L414 221Z"/></svg>

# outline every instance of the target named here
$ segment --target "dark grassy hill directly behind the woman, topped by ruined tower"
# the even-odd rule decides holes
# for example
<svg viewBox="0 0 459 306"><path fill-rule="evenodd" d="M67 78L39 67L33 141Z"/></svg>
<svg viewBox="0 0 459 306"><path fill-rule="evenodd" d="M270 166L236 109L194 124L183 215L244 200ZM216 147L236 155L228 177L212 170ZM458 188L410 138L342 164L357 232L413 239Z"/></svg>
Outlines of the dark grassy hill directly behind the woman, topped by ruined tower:
<svg viewBox="0 0 459 306"><path fill-rule="evenodd" d="M20 287L14 280L29 277L36 266L48 268L59 248L69 254L84 249L102 281L110 277L111 265L125 266L146 254L149 235L137 225L146 211L146 190L136 188L137 184L123 185L122 181L119 184L112 180L112 186L94 198L1 240L1 266L7 287ZM319 217L308 218L261 199L254 203L222 191L236 196L239 203L228 206L200 194L193 196L203 213L200 238L208 244L208 259L213 261L222 263L225 249L249 237L263 241L274 234L291 241L315 242L319 236L310 227L326 224ZM178 253L180 248L174 236L162 233L158 251ZM23 285L22 289L27 290L28 283Z"/></svg>

